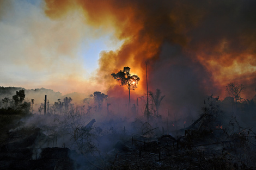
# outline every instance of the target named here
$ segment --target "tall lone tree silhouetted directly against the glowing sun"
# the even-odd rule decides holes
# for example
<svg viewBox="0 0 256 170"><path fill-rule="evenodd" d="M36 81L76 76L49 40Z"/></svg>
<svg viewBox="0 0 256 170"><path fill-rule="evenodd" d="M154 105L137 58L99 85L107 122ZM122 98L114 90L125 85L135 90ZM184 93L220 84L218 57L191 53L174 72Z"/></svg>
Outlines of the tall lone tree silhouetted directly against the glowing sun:
<svg viewBox="0 0 256 170"><path fill-rule="evenodd" d="M130 90L135 90L140 80L138 75L130 74L130 67L124 67L124 70L120 70L118 73L112 73L112 77L121 82L121 86L127 86L129 90L129 107L131 106Z"/></svg>

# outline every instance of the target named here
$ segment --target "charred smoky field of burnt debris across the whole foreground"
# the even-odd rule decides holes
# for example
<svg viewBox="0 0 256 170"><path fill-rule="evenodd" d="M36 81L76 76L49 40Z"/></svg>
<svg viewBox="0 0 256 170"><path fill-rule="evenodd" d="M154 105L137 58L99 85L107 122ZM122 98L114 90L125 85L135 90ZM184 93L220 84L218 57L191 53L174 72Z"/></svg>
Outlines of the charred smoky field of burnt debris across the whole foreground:
<svg viewBox="0 0 256 170"><path fill-rule="evenodd" d="M178 126L75 105L45 115L2 108L0 169L255 169L256 134L234 114L224 120L218 105L208 97L196 119Z"/></svg>

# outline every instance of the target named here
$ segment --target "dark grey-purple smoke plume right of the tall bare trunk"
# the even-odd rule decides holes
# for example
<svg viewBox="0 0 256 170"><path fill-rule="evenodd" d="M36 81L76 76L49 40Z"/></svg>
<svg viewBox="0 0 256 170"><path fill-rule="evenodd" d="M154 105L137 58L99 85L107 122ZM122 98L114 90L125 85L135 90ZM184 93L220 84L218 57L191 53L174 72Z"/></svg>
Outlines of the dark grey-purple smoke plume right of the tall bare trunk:
<svg viewBox="0 0 256 170"><path fill-rule="evenodd" d="M202 65L182 55L180 49L168 43L163 45L160 59L150 72L149 83L151 89L161 89L162 95L166 95L163 105L170 113L182 115L185 111L194 115L199 112L205 95L210 95L209 91L215 93L216 88Z"/></svg>

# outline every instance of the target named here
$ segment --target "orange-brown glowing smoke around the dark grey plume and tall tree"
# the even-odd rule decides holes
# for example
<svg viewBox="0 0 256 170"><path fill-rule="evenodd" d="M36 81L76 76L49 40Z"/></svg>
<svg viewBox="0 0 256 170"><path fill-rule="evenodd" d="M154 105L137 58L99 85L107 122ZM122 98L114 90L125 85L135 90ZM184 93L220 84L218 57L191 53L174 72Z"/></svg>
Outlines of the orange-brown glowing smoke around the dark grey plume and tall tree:
<svg viewBox="0 0 256 170"><path fill-rule="evenodd" d="M243 21L241 18L236 20L235 17L240 16L238 14L227 16L232 18L228 21L217 15L215 11L222 9L216 8L219 7L220 2L216 2L217 4L215 1L205 2L204 6L191 1L183 3L179 1L45 0L45 2L46 16L58 19L69 15L70 12L78 11L84 16L85 24L102 32L113 30L114 36L124 42L117 51L100 54L96 81L104 84L110 96L117 96L116 91L121 87L109 75L125 66L131 67L131 71L141 78L138 89L133 92L136 94L131 97L145 93L145 61L161 60L162 47L166 43L180 48L177 56L174 56L175 50L167 56L163 54L162 58L165 57L167 61L164 63L166 67L172 67L172 64L179 62L178 58L183 55L199 63L204 72L209 74L209 78L200 77L205 78L202 81L202 91L205 90L208 95L215 88L217 89L215 92L218 93L216 95L220 95L223 99L226 96L225 85L230 81L237 81L245 86L252 86L255 81L256 41L255 36L252 36L256 33L255 29L251 29L251 21L248 22L248 27L246 21L239 25L237 24L239 22L232 23L232 21ZM223 4L220 3L220 5ZM240 8L243 5L239 3L236 5L239 10L234 12L243 10ZM213 15L210 15L212 11L216 14L215 20L212 20ZM230 14L233 12L227 12L227 15ZM220 27L212 29L213 27L208 26L209 21L214 21L211 24ZM229 28L231 26L234 30ZM168 50L172 51L172 49ZM167 58L175 59L172 60L173 63L169 63ZM190 62L182 62L182 65L189 67ZM152 66L153 64L148 67L149 72L153 69ZM212 89L208 89L209 84ZM255 94L247 92L247 95ZM249 97L245 94L244 98Z"/></svg>

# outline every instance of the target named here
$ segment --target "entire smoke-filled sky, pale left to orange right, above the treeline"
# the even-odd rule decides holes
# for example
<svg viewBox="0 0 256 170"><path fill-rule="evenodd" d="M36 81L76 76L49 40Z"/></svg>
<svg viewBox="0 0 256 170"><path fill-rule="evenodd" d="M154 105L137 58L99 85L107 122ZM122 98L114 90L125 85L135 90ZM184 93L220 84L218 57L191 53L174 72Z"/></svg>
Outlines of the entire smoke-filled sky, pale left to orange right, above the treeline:
<svg viewBox="0 0 256 170"><path fill-rule="evenodd" d="M2 86L124 98L111 73L129 66L141 78L135 103L149 61L149 90L177 112L206 95L224 99L230 82L255 95L255 1L35 2L0 1Z"/></svg>

